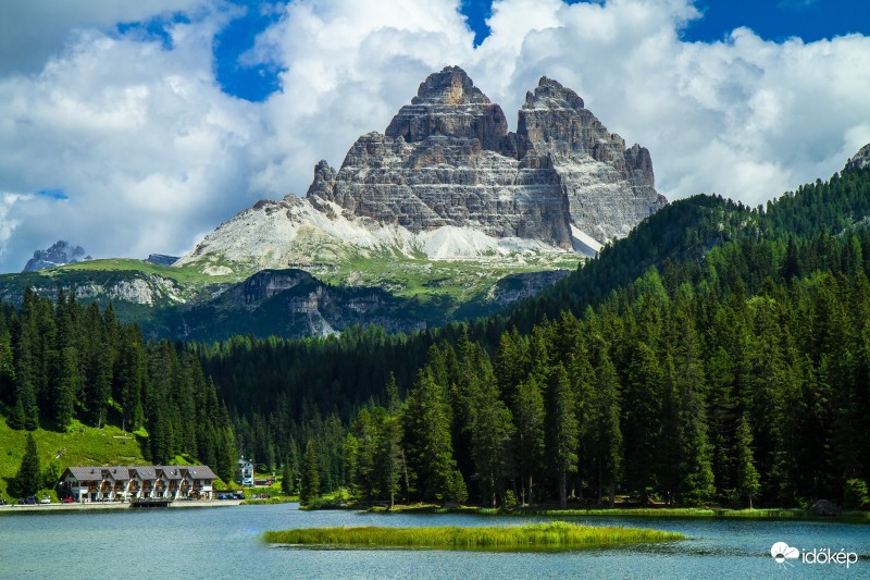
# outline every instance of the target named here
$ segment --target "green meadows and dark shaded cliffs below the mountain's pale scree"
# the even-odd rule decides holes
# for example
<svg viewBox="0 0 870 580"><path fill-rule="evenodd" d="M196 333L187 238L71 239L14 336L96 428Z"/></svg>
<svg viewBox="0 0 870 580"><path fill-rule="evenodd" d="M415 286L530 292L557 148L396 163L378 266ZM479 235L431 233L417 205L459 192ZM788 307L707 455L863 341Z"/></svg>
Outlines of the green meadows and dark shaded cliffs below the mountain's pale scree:
<svg viewBox="0 0 870 580"><path fill-rule="evenodd" d="M221 270L211 266L207 273L201 264L167 267L108 259L2 274L0 297L20 304L28 286L52 297L59 289L74 289L77 299L86 304L96 301L104 307L111 300L119 319L138 323L147 336L175 340L220 340L247 333L298 337L353 324L409 332L493 313L536 294L575 268L579 259L568 255L530 257L505 264L375 256L314 262L303 269L316 279L256 304L245 299L245 275L215 274ZM319 299L323 295L327 299ZM356 308L360 301L370 307Z"/></svg>

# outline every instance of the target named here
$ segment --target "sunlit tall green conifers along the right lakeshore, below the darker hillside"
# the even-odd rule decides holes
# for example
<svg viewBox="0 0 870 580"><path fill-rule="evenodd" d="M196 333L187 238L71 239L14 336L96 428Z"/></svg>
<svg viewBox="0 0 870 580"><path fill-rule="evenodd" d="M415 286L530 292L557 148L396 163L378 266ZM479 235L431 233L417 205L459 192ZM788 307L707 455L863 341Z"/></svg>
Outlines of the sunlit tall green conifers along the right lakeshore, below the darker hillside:
<svg viewBox="0 0 870 580"><path fill-rule="evenodd" d="M390 504L843 502L870 478L869 320L863 272L717 297L650 270L493 356L433 346L403 400L389 381L357 412L345 483Z"/></svg>

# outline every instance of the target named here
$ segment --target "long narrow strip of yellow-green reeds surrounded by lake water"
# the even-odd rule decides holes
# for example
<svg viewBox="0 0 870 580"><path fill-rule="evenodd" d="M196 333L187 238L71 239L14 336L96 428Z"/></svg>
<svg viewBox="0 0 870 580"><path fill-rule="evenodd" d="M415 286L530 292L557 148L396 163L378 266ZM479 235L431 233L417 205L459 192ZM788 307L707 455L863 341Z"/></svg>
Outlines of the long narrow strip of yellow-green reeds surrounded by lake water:
<svg viewBox="0 0 870 580"><path fill-rule="evenodd" d="M490 552L588 550L684 540L681 533L563 521L504 528L310 528L269 531L274 544L331 547L428 547Z"/></svg>

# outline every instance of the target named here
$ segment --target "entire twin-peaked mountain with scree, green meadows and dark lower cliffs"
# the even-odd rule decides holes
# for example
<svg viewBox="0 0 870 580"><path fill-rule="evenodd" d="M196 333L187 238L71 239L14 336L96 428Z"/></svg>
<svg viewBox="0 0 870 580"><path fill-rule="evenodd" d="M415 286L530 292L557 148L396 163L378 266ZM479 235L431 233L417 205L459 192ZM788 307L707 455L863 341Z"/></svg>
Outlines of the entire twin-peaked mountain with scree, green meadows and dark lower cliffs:
<svg viewBox="0 0 870 580"><path fill-rule="evenodd" d="M258 201L181 259L63 262L0 276L0 296L111 299L147 335L183 340L409 332L493 313L666 203L649 152L556 81L526 96L517 126L447 67L338 171L318 163L306 197Z"/></svg>

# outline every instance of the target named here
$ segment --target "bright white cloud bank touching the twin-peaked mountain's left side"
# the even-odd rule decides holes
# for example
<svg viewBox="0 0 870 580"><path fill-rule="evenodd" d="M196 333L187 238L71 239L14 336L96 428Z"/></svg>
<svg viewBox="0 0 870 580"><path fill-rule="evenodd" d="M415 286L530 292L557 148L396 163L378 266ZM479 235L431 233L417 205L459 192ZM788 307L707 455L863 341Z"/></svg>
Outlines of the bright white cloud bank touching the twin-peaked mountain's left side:
<svg viewBox="0 0 870 580"><path fill-rule="evenodd" d="M303 194L313 164L337 165L363 133L384 131L420 82L472 57L458 2L289 4L248 59L281 66L283 90L263 106L252 186Z"/></svg>

